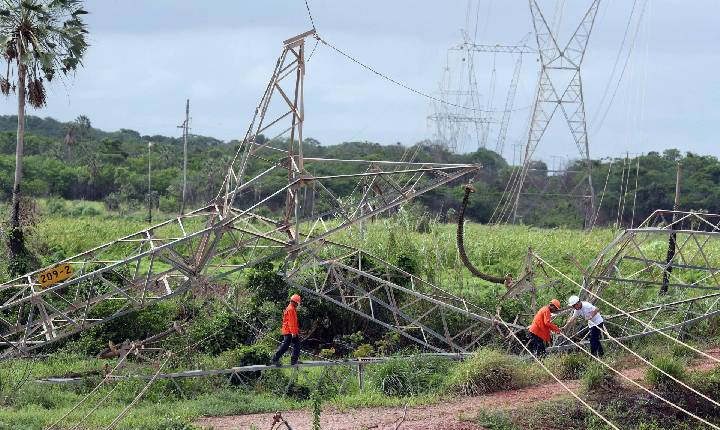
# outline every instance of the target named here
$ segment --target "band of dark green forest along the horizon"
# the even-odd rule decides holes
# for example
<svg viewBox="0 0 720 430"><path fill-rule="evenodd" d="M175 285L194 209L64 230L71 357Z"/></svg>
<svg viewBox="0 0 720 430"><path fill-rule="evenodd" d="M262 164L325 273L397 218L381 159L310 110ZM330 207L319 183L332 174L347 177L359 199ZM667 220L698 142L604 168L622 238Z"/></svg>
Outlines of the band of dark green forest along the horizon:
<svg viewBox="0 0 720 430"><path fill-rule="evenodd" d="M11 194L16 127L15 116L0 116L2 201L7 201ZM142 207L148 196L147 144L152 141L150 200L163 211L178 210L182 189L181 138L142 136L127 129L105 132L93 128L86 117L63 123L29 116L26 132L23 187L28 195L103 201L111 210ZM418 149L415 161L484 166L476 178L477 193L468 206L467 216L476 222L489 221L517 167L509 166L500 155L487 149L453 154L429 141L417 145L419 149L412 150L415 153ZM214 197L239 142L192 135L188 146L188 194L190 205L197 206ZM408 147L372 142L323 145L306 139L304 151L306 156L314 157L400 160ZM602 201L598 223L615 224L619 220L622 225L631 222L637 225L657 208L672 208L678 163L683 166L681 208L720 212L718 159L673 149L631 159L594 161L593 182L597 202ZM548 172L542 162L535 162L532 167L518 221L544 227L582 226L588 204L583 197L587 193L584 163L570 165L561 174ZM462 188L455 184L422 196L419 203L433 216L450 220L461 198Z"/></svg>

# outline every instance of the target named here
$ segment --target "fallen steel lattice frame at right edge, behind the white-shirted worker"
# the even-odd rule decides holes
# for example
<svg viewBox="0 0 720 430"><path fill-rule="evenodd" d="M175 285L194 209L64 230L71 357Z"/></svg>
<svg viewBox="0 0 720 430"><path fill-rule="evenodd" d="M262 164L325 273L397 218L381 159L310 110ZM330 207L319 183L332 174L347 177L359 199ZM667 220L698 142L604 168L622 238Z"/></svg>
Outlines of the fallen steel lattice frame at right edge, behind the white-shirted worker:
<svg viewBox="0 0 720 430"><path fill-rule="evenodd" d="M618 340L657 331L686 337L692 336L692 325L717 324L720 215L655 211L599 254L579 294L602 310L606 328ZM598 296L625 312L612 309Z"/></svg>

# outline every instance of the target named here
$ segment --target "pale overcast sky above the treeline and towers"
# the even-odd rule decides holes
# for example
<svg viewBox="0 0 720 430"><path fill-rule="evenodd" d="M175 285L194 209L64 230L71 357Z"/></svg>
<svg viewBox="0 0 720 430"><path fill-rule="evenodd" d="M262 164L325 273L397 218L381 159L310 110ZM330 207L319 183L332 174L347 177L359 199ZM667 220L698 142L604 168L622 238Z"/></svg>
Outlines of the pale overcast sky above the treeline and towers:
<svg viewBox="0 0 720 430"><path fill-rule="evenodd" d="M309 2L324 38L383 73L428 93L438 91L446 66L455 85L466 82L462 56L448 55L447 49L462 41L467 0ZM590 4L538 2L561 43ZM591 155L669 147L720 155L720 2L638 0L620 51L632 6L633 0L601 1L583 64ZM310 27L302 0L88 0L86 9L91 47L84 68L65 84L55 83L48 107L31 113L62 121L84 114L95 127L143 134L179 136L184 100L190 98L194 133L241 137L282 40ZM532 31L526 0L473 0L470 9L469 37L477 43L512 44ZM534 39L528 44L535 46ZM502 110L515 58L473 58L483 103ZM511 161L513 146L527 139L537 75L536 58L524 57L504 151ZM324 144L413 144L433 137L428 100L326 47L318 47L308 64L305 90L305 135ZM6 100L2 113L14 113L14 105ZM490 148L496 145L497 129L494 125L488 134ZM463 149L476 146L477 141L469 141ZM578 156L562 117L553 120L538 155L549 162Z"/></svg>

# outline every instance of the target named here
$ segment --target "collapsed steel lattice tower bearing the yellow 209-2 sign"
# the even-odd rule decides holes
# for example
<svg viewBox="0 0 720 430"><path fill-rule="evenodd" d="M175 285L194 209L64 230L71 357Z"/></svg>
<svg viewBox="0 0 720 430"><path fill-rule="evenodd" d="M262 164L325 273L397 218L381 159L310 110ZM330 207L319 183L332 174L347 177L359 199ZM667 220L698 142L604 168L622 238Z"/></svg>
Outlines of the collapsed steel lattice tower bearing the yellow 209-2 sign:
<svg viewBox="0 0 720 430"><path fill-rule="evenodd" d="M283 43L214 201L57 263L74 276L48 288L39 283L41 271L0 285L6 357L173 297L225 294L242 270L277 259L290 285L431 350L467 351L493 329L492 317L462 298L336 241L481 167L305 157L305 41L312 37L314 30ZM345 173L325 174L329 165Z"/></svg>

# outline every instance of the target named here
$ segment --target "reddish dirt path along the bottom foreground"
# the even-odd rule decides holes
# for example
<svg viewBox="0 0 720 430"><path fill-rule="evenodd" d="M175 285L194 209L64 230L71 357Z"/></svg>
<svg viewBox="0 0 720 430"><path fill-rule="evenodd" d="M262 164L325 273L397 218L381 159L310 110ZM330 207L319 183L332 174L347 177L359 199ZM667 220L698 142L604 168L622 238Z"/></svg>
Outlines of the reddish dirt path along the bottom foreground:
<svg viewBox="0 0 720 430"><path fill-rule="evenodd" d="M720 350L708 351L713 356L720 357ZM699 363L694 369L709 370L716 363L707 360ZM633 368L624 370L623 374L633 380L642 379L645 368ZM577 391L580 388L579 381L564 381L565 384ZM463 421L462 418L477 416L481 408L511 408L523 404L558 399L570 396L568 392L557 383L548 383L540 386L523 388L520 390L501 391L486 396L458 397L455 400L443 403L414 406L408 408L406 420L402 430L483 430L483 427ZM227 417L208 417L197 420L194 424L203 428L217 430L250 429L253 425L258 429L269 428L273 422L272 413L237 415ZM283 417L293 426L295 430L311 428L312 415L306 410L295 410L283 412ZM321 425L324 429L332 430L357 430L377 429L393 430L403 417L402 407L382 408L357 408L346 411L333 409L323 410Z"/></svg>

